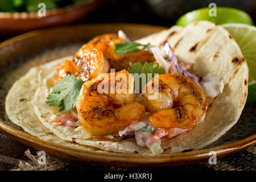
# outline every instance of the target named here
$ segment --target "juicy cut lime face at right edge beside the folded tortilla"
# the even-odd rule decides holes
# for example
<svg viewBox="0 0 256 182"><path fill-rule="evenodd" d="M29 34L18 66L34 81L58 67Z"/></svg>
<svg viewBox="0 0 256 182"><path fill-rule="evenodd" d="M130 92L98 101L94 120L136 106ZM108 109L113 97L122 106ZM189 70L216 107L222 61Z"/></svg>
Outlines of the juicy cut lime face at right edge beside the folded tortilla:
<svg viewBox="0 0 256 182"><path fill-rule="evenodd" d="M249 67L247 102L256 102L256 27L241 23L224 24L241 48Z"/></svg>

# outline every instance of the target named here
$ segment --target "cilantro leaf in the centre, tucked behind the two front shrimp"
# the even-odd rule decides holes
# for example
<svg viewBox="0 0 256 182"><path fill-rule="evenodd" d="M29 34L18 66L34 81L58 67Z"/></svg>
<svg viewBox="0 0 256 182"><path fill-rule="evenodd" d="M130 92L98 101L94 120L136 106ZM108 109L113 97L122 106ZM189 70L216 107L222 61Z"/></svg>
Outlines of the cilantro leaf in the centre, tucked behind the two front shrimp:
<svg viewBox="0 0 256 182"><path fill-rule="evenodd" d="M151 78L153 78L156 74L162 75L164 74L164 69L163 68L159 68L159 65L155 65L153 62L146 62L144 63L144 65L142 66L141 63L135 63L133 65L131 65L131 68L128 68L127 71L131 74L136 74L138 73L139 75L139 92L142 92L145 84L143 84L142 82L142 77L141 74L144 74L146 76L146 84L147 82L149 82L151 80ZM152 74L151 77L148 77L148 74ZM136 80L135 80L136 81ZM136 89L136 88L135 88Z"/></svg>

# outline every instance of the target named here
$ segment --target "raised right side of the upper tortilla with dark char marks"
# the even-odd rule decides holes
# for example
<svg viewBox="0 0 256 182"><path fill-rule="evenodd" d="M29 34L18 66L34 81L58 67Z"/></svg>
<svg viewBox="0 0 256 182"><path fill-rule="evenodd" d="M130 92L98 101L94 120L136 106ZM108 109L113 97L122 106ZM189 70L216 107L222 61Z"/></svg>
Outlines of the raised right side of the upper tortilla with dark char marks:
<svg viewBox="0 0 256 182"><path fill-rule="evenodd" d="M158 40L156 46L162 48L166 39L179 62L193 63L192 73L199 77L214 73L225 84L223 92L207 111L204 122L162 142L166 153L197 150L216 141L238 121L247 98L248 67L236 41L216 24L195 22L150 35L138 42L154 44Z"/></svg>

